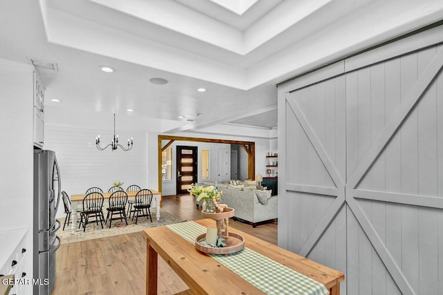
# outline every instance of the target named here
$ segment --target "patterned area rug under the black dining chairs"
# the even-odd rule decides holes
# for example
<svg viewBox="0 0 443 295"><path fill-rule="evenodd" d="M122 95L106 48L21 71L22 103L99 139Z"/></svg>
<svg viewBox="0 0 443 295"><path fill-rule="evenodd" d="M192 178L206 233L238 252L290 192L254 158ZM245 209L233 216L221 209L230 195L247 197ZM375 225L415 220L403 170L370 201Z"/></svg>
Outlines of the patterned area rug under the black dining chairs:
<svg viewBox="0 0 443 295"><path fill-rule="evenodd" d="M75 233L71 230L71 224L69 224L69 226L66 225L64 231L62 230L64 223L64 218L62 218L59 219L59 221L62 223L62 227L60 227L60 229L57 231L57 236L60 237L62 245L64 245L71 242L81 242L83 240L93 240L96 238L106 238L109 236L132 234L137 231L143 231L143 229L147 229L150 227L161 227L162 225L171 225L173 223L184 221L166 211L160 212L160 220L157 221L155 213L155 210L151 212L152 222L146 217L138 218L137 224L135 224L135 218L134 220L128 218L127 225L125 223L125 220L123 220L123 222L121 222L120 220L112 220L112 226L110 229L109 221L107 222L107 225L103 224L103 229L100 225L100 222L98 223L98 225L96 225L96 223L90 223L89 225L87 225L85 232L83 232L83 229L78 229Z"/></svg>

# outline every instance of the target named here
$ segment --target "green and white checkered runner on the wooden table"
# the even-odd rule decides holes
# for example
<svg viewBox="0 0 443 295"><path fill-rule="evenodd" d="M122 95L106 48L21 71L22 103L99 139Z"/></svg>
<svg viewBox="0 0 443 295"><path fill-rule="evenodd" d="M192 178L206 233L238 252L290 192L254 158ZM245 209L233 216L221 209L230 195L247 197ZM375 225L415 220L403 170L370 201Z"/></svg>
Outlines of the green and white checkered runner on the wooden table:
<svg viewBox="0 0 443 295"><path fill-rule="evenodd" d="M197 236L206 234L206 227L193 221L175 223L166 227L192 245L195 245ZM266 294L329 294L326 287L316 280L246 247L234 254L210 254L210 256Z"/></svg>

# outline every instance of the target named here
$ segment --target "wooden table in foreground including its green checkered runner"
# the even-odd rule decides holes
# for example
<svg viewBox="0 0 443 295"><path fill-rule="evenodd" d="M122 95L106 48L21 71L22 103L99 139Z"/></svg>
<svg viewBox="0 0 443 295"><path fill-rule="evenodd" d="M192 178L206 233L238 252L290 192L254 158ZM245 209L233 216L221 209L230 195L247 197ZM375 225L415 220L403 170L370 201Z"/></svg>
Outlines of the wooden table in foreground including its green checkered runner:
<svg viewBox="0 0 443 295"><path fill-rule="evenodd" d="M161 256L193 294L339 295L343 272L251 236L232 254L206 254L195 241L213 219L192 220L143 230L147 238L146 294L157 294Z"/></svg>

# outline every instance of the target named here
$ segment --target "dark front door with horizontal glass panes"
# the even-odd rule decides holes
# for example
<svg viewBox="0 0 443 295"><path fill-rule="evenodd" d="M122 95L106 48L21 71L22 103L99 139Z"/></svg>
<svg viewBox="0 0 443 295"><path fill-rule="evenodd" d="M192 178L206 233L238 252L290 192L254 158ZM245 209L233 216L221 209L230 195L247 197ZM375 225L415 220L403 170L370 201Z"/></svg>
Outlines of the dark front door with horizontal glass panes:
<svg viewBox="0 0 443 295"><path fill-rule="evenodd" d="M197 182L197 146L177 146L177 195Z"/></svg>

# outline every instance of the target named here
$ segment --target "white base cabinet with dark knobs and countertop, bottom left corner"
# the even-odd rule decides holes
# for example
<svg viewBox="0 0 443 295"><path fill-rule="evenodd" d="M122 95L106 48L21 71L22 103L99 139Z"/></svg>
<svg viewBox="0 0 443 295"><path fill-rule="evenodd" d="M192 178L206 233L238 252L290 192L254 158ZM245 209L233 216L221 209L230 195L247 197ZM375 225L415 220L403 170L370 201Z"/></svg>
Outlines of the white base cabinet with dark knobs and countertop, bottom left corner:
<svg viewBox="0 0 443 295"><path fill-rule="evenodd" d="M25 283L33 277L32 269L28 265L28 256L31 255L27 245L28 229L2 231L0 240L7 241L0 252L0 275L15 275L16 284L9 294L30 294L32 286Z"/></svg>

